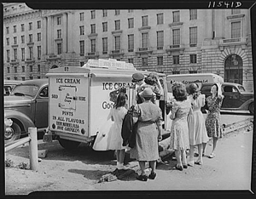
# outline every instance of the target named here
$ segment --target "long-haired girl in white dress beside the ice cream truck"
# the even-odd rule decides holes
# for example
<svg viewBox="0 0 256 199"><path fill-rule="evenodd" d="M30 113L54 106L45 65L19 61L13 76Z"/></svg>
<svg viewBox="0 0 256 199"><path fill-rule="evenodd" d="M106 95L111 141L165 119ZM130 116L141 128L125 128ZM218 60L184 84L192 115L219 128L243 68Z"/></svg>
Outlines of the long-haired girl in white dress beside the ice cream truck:
<svg viewBox="0 0 256 199"><path fill-rule="evenodd" d="M108 119L112 119L113 125L109 129L108 137L108 150L116 150L117 157L117 168L118 169L127 169L124 165L125 160L125 149L127 146L123 146L123 139L121 136L121 129L124 117L127 113L126 106L127 95L124 93L119 93L116 103L113 106L113 109L110 110Z"/></svg>

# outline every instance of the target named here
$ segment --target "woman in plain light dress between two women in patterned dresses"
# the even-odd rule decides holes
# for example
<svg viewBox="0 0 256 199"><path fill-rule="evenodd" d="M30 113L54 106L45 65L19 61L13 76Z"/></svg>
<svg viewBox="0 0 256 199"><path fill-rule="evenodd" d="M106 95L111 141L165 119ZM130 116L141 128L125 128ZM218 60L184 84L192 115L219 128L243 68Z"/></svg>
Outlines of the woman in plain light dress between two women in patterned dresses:
<svg viewBox="0 0 256 199"><path fill-rule="evenodd" d="M198 159L196 164L202 164L202 149L203 143L207 143L209 140L207 136L207 128L205 119L201 112L201 107L205 105L205 94L200 93L200 89L196 83L189 84L188 87L189 97L192 105L192 113L188 117L189 125L189 162L188 165L194 166L194 148L198 147Z"/></svg>

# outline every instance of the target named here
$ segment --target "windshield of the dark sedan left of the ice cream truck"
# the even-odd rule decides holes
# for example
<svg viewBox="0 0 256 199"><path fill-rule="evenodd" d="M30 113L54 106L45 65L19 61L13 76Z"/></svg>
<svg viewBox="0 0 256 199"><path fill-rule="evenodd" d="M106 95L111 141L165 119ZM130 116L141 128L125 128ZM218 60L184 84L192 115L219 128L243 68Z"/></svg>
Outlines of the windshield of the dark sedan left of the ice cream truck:
<svg viewBox="0 0 256 199"><path fill-rule="evenodd" d="M34 97L38 93L38 86L36 85L17 85L11 92L11 95L28 95Z"/></svg>

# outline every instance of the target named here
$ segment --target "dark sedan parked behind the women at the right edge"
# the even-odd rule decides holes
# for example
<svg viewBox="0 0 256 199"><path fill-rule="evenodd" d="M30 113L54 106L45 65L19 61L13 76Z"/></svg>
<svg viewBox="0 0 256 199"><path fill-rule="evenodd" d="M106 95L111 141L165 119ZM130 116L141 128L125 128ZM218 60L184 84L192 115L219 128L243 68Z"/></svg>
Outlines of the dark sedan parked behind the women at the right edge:
<svg viewBox="0 0 256 199"><path fill-rule="evenodd" d="M201 87L201 94L206 94L206 97L211 95L212 83L205 83ZM247 92L239 83L224 82L222 83L224 100L221 110L230 111L250 111L254 114L254 95L252 92Z"/></svg>

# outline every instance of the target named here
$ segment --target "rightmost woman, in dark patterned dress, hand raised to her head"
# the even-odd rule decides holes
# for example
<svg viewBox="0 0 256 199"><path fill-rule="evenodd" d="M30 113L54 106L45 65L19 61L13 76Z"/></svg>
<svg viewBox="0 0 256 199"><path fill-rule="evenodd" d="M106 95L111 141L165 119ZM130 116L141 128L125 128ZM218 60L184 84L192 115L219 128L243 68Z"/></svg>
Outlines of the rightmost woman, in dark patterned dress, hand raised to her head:
<svg viewBox="0 0 256 199"><path fill-rule="evenodd" d="M218 137L221 134L221 123L220 123L220 107L222 105L224 96L222 95L221 85L219 83L214 83L211 88L211 94L207 97L207 118L206 127L208 137L213 139L212 153L210 158L215 156L215 149L218 141ZM205 153L207 144L203 144L203 154Z"/></svg>

